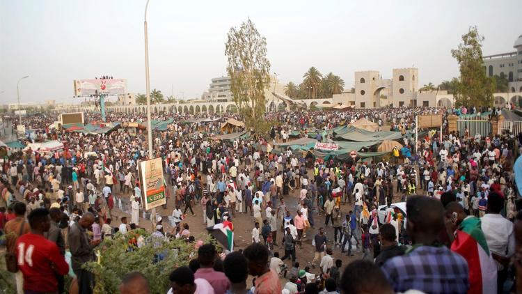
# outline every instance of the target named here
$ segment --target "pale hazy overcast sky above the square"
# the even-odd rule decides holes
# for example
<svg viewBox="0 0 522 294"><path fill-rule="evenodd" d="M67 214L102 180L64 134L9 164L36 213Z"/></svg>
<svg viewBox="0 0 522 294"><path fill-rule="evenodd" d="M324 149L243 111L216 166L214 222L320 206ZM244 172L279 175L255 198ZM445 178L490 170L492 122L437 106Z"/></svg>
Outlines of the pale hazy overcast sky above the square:
<svg viewBox="0 0 522 294"><path fill-rule="evenodd" d="M16 102L25 75L22 102L74 101L73 79L100 75L144 93L144 8L145 0L0 0L0 103ZM299 83L315 66L350 88L356 70L389 78L413 65L421 86L438 84L458 75L450 49L471 25L485 37L484 55L513 51L521 12L521 0L150 0L150 86L199 98L226 75L226 35L248 17L283 82Z"/></svg>

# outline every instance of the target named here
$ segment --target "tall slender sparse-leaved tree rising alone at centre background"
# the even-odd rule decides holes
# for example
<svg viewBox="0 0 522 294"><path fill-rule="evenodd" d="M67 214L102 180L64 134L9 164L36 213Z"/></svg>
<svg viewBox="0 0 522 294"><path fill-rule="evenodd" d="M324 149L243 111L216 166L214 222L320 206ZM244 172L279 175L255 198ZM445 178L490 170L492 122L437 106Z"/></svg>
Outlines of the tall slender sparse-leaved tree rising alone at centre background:
<svg viewBox="0 0 522 294"><path fill-rule="evenodd" d="M225 55L234 101L247 119L258 121L264 114L264 89L270 82L267 40L248 19L228 32Z"/></svg>

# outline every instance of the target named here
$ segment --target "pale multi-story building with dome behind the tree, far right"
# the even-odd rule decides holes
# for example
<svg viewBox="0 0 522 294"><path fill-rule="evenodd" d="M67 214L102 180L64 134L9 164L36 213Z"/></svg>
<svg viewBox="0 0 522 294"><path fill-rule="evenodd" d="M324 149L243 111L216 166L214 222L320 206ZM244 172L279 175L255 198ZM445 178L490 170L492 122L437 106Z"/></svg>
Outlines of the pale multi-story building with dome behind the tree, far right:
<svg viewBox="0 0 522 294"><path fill-rule="evenodd" d="M509 92L522 92L522 35L514 42L514 52L484 56L484 70L488 77L505 77Z"/></svg>

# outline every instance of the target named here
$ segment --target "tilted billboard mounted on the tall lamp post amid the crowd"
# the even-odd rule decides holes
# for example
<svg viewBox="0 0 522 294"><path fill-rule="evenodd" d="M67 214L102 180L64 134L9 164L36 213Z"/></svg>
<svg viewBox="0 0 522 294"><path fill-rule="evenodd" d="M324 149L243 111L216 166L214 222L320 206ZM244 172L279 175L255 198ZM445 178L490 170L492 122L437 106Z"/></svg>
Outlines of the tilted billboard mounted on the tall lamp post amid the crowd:
<svg viewBox="0 0 522 294"><path fill-rule="evenodd" d="M161 158L140 161L138 167L143 208L150 210L164 205L166 197Z"/></svg>

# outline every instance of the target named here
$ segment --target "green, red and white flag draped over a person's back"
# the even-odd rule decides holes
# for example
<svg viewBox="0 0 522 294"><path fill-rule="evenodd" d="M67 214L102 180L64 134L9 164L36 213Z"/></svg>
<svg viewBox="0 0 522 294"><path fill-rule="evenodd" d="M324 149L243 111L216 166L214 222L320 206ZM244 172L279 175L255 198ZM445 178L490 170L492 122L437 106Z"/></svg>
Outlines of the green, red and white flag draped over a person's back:
<svg viewBox="0 0 522 294"><path fill-rule="evenodd" d="M466 217L461 222L451 249L468 262L468 293L497 292L497 267L489 252L484 232L480 228L479 218Z"/></svg>

